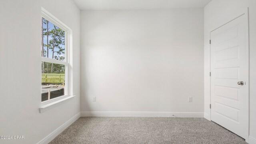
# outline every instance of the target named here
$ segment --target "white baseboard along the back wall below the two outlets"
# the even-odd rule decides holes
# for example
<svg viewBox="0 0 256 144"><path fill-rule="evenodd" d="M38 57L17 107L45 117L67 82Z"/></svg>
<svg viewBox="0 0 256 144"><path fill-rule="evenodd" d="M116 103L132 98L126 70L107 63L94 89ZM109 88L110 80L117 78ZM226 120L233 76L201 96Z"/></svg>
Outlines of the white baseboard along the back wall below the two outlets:
<svg viewBox="0 0 256 144"><path fill-rule="evenodd" d="M81 117L180 117L204 118L203 112L81 112Z"/></svg>

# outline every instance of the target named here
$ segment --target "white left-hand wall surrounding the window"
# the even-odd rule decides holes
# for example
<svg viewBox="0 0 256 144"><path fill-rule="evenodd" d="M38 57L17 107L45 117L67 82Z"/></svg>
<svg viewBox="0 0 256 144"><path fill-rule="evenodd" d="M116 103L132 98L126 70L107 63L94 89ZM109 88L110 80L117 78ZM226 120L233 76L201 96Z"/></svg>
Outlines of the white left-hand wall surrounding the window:
<svg viewBox="0 0 256 144"><path fill-rule="evenodd" d="M58 5L58 6L56 6ZM41 6L73 30L71 100L39 113L41 104ZM0 2L0 136L35 144L80 112L80 10L72 0Z"/></svg>

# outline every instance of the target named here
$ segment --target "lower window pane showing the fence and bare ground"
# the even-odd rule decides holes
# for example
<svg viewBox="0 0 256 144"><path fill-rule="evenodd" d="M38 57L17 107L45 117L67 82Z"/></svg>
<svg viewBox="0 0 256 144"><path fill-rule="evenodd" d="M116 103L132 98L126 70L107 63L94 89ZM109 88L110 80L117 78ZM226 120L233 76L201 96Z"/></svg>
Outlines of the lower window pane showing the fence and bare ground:
<svg viewBox="0 0 256 144"><path fill-rule="evenodd" d="M42 62L42 102L64 96L65 65Z"/></svg>

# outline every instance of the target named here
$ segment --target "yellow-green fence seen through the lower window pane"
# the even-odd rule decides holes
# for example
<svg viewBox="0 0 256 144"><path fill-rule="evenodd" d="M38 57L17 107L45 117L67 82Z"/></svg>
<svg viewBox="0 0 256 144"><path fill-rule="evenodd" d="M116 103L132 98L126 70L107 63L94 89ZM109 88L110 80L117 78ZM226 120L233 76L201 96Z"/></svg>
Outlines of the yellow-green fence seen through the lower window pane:
<svg viewBox="0 0 256 144"><path fill-rule="evenodd" d="M65 74L42 74L42 83L62 84Z"/></svg>

